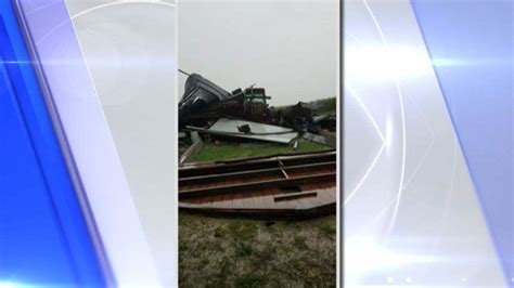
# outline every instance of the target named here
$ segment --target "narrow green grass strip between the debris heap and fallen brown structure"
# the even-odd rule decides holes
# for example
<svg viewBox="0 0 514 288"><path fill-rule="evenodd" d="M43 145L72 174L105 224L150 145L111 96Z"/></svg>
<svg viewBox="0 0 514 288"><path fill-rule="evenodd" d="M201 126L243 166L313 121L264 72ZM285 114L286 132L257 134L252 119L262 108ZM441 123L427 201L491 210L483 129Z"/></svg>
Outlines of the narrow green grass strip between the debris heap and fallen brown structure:
<svg viewBox="0 0 514 288"><path fill-rule="evenodd" d="M205 143L205 145L193 156L192 160L195 162L221 161L275 154L294 154L327 149L331 149L331 147L306 140L298 141L298 147L296 150L294 149L293 144L281 145L260 142L237 143L221 140L219 144Z"/></svg>

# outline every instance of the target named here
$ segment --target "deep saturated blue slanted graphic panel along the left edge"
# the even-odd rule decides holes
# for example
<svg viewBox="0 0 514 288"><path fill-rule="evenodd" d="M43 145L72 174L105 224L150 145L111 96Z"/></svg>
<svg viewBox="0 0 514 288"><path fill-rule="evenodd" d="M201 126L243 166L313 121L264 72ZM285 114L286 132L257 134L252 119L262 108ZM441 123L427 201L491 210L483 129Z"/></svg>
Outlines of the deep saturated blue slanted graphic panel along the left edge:
<svg viewBox="0 0 514 288"><path fill-rule="evenodd" d="M10 1L0 1L0 286L104 280Z"/></svg>

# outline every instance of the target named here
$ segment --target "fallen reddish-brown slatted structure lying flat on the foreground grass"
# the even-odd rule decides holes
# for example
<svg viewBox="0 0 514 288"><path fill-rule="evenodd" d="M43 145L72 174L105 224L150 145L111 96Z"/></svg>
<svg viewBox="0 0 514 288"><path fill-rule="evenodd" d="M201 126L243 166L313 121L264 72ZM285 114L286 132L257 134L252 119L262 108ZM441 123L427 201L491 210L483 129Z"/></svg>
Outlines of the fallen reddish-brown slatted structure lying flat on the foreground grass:
<svg viewBox="0 0 514 288"><path fill-rule="evenodd" d="M179 169L179 209L214 217L306 219L336 209L336 153L277 155Z"/></svg>

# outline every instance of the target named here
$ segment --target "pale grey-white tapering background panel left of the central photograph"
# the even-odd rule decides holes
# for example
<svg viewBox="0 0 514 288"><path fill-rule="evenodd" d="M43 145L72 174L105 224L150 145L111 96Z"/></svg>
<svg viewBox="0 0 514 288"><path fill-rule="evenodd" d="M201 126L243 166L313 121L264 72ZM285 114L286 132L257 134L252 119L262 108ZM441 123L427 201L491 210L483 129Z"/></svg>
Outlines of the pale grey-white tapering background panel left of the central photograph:
<svg viewBox="0 0 514 288"><path fill-rule="evenodd" d="M67 6L157 271L175 285L174 1L67 0Z"/></svg>

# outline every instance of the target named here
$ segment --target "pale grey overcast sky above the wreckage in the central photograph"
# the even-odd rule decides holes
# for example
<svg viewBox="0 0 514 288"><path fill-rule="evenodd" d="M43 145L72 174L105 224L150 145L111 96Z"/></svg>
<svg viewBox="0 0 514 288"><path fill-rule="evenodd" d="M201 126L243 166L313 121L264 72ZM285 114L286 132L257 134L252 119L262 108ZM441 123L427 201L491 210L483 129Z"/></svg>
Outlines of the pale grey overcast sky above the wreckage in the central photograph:
<svg viewBox="0 0 514 288"><path fill-rule="evenodd" d="M337 0L182 0L178 16L181 69L228 91L256 83L271 105L336 95Z"/></svg>

